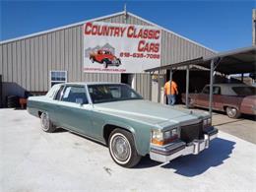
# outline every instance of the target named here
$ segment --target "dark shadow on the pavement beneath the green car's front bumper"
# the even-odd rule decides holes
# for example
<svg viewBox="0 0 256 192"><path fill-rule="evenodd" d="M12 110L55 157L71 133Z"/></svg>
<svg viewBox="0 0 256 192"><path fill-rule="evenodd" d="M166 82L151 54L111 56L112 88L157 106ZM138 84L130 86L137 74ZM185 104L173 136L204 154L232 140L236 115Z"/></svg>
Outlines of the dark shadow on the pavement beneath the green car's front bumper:
<svg viewBox="0 0 256 192"><path fill-rule="evenodd" d="M211 167L223 164L232 153L234 145L232 141L217 138L211 142L209 149L197 156L184 156L163 164L145 157L135 168L147 168L161 164L162 168L175 169L174 173L192 177L204 173Z"/></svg>

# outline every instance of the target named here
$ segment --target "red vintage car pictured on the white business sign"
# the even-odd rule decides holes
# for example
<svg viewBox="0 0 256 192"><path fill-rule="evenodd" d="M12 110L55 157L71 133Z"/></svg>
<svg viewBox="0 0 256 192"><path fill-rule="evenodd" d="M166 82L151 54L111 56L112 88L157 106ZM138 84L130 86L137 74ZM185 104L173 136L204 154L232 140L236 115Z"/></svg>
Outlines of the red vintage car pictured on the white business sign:
<svg viewBox="0 0 256 192"><path fill-rule="evenodd" d="M108 65L121 65L121 60L108 50L97 50L96 52L92 52L90 54L90 60L93 63L96 61L97 63L103 64L104 68L107 68Z"/></svg>

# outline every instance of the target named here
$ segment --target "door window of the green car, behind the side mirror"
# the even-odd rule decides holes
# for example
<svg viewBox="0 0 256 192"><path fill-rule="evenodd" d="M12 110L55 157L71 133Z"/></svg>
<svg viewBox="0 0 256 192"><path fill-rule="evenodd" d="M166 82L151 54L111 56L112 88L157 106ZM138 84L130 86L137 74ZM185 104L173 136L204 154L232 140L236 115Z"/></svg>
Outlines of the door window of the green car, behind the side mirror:
<svg viewBox="0 0 256 192"><path fill-rule="evenodd" d="M67 86L61 98L63 101L75 103L88 103L85 87Z"/></svg>

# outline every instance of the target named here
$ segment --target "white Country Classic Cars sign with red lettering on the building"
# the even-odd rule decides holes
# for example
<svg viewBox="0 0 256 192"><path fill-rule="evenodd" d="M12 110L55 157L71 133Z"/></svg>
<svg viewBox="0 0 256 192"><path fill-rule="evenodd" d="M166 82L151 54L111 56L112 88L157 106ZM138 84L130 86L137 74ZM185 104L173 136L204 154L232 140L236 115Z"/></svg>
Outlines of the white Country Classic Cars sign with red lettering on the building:
<svg viewBox="0 0 256 192"><path fill-rule="evenodd" d="M84 25L84 72L141 73L160 66L160 29L110 23Z"/></svg>

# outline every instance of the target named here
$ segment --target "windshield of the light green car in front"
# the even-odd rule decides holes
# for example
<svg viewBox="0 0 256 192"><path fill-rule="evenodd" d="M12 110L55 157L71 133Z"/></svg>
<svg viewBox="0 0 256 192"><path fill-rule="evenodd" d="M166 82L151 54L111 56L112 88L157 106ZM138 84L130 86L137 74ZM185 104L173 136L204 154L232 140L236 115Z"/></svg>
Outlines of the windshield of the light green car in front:
<svg viewBox="0 0 256 192"><path fill-rule="evenodd" d="M88 89L93 103L143 98L129 86L122 84L91 85Z"/></svg>

